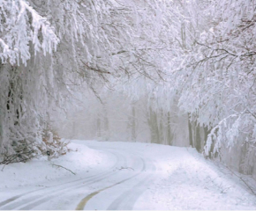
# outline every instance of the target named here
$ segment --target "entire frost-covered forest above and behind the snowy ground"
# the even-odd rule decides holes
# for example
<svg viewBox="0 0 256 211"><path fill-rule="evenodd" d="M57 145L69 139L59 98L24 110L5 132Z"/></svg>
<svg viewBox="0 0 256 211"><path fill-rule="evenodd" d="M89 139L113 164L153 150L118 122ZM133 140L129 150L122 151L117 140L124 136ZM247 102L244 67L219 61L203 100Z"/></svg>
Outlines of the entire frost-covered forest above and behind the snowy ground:
<svg viewBox="0 0 256 211"><path fill-rule="evenodd" d="M0 0L0 164L152 142L256 178L255 23L254 0Z"/></svg>

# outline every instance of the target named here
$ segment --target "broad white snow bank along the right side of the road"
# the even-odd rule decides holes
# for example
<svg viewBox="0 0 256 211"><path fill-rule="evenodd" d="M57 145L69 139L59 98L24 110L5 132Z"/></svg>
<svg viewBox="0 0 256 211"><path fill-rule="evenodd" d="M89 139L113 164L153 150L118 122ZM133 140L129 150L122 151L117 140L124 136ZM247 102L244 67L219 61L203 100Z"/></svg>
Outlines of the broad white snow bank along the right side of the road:
<svg viewBox="0 0 256 211"><path fill-rule="evenodd" d="M159 179L140 196L134 209L255 210L256 198L240 178L196 149L150 144L144 153L156 158Z"/></svg>

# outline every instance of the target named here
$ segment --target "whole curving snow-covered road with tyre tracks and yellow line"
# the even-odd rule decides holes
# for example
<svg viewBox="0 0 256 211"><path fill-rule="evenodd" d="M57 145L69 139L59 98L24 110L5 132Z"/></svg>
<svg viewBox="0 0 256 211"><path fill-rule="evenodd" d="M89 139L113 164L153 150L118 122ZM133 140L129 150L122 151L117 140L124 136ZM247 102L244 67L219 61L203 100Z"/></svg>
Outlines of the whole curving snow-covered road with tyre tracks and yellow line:
<svg viewBox="0 0 256 211"><path fill-rule="evenodd" d="M131 210L156 178L154 161L132 149L91 148L112 156L115 164L85 178L14 195L0 201L0 209Z"/></svg>

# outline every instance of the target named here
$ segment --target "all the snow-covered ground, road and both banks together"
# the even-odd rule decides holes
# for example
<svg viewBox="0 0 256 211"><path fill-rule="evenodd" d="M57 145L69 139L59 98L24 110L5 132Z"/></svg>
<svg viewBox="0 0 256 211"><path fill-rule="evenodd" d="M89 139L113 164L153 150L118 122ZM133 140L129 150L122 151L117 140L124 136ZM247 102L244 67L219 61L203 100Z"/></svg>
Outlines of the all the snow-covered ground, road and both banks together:
<svg viewBox="0 0 256 211"><path fill-rule="evenodd" d="M256 197L238 178L194 149L94 141L71 147L50 162L5 166L0 208L256 209Z"/></svg>

